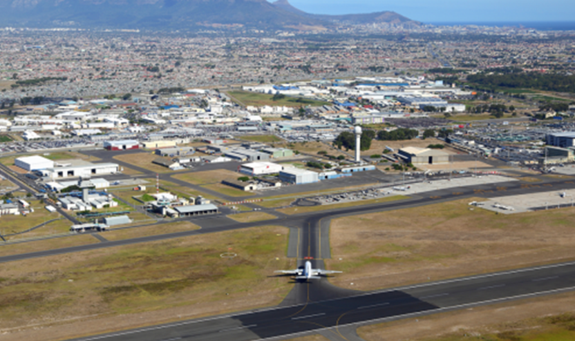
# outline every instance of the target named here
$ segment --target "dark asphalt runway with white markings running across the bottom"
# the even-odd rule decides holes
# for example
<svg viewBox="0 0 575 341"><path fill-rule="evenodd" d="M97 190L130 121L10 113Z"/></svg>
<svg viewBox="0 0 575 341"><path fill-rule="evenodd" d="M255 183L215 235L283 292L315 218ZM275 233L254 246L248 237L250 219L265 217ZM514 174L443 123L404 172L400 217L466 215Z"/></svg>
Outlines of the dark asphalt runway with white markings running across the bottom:
<svg viewBox="0 0 575 341"><path fill-rule="evenodd" d="M323 280L299 284L309 290ZM575 264L541 266L420 284L336 300L261 309L237 315L189 320L98 335L77 341L281 340L353 325L465 309L575 289ZM311 292L311 291L310 291Z"/></svg>

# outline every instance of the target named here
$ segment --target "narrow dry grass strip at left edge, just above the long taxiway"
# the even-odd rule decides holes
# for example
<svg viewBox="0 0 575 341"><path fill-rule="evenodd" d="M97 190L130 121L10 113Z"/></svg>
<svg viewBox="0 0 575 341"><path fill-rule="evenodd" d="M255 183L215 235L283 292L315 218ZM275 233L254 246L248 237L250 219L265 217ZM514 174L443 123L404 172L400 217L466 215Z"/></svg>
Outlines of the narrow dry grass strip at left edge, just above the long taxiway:
<svg viewBox="0 0 575 341"><path fill-rule="evenodd" d="M96 242L97 240L95 240L91 235L72 235L70 237L39 240L37 242L2 244L2 246L0 246L0 256L3 257L7 255L19 255L21 253L62 249L70 246L94 244Z"/></svg>

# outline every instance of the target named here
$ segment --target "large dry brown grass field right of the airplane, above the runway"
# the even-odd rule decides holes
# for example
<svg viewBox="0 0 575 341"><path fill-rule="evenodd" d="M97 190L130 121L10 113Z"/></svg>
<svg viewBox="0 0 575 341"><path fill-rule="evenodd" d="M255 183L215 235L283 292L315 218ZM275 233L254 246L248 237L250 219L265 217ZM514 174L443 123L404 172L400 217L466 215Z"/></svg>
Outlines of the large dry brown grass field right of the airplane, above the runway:
<svg viewBox="0 0 575 341"><path fill-rule="evenodd" d="M371 290L575 258L575 208L496 215L471 201L334 220L332 282Z"/></svg>

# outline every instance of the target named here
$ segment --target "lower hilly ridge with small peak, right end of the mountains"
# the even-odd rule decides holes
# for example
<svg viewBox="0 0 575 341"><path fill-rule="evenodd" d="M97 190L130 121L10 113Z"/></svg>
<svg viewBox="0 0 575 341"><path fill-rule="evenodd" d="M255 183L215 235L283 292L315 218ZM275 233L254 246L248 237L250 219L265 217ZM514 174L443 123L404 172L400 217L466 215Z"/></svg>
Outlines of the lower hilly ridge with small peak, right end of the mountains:
<svg viewBox="0 0 575 341"><path fill-rule="evenodd" d="M303 12L292 6L292 4L287 0L277 0L273 3L274 6L286 10L287 12L292 12L294 14L299 14L304 17L318 19L322 21L338 22L338 23L348 23L355 25L364 25L368 23L415 23L419 24L417 21L408 19L401 14L396 12L384 11L384 12L374 12L367 14L344 14L344 15L327 15L327 14L310 14Z"/></svg>

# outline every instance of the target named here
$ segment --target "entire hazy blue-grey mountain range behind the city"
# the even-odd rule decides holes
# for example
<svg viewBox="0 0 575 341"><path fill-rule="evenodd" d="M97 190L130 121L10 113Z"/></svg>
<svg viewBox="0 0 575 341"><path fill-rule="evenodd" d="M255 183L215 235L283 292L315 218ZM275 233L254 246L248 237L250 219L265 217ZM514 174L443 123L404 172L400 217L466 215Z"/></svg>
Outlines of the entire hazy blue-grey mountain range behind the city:
<svg viewBox="0 0 575 341"><path fill-rule="evenodd" d="M308 14L287 0L0 0L0 26L326 30L335 23L413 22L394 12Z"/></svg>

